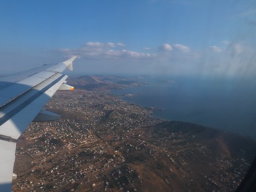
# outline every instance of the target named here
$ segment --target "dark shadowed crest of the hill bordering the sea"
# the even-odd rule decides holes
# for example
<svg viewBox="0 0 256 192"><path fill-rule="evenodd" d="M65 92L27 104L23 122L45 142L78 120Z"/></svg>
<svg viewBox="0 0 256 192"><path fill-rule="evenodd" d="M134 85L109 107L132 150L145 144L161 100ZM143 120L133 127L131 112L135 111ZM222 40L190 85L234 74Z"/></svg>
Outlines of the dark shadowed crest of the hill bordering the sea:
<svg viewBox="0 0 256 192"><path fill-rule="evenodd" d="M197 125L195 123L187 123L182 121L164 121L158 125L153 126L156 133L161 135L164 134L182 134L186 137L189 142L201 142L205 140L218 141L222 143L221 147L216 147L212 145L211 150L227 149L232 153L233 157L239 156L241 151L247 154L247 158L253 160L255 157L255 140L245 137L243 135L238 135L235 133L229 133L227 131L222 131L219 129L213 129L210 127L205 127L203 125ZM166 131L163 132L163 129ZM166 133L168 132L168 133Z"/></svg>

